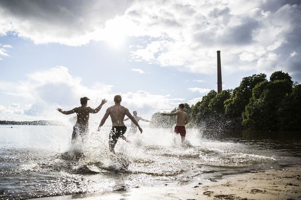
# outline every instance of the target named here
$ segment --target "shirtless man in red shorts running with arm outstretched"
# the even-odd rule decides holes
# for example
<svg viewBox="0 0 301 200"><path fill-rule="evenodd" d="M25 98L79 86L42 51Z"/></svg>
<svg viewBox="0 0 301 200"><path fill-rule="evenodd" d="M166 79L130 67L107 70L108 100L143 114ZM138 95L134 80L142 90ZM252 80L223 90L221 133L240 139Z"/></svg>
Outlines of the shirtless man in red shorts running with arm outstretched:
<svg viewBox="0 0 301 200"><path fill-rule="evenodd" d="M181 103L179 104L178 111L174 113L161 113L161 115L167 115L167 116L174 116L176 115L176 121L177 124L175 126L175 133L180 133L181 135L181 141L184 142L185 140L185 135L186 135L186 129L185 125L188 124L188 117L187 113L184 112L184 104Z"/></svg>

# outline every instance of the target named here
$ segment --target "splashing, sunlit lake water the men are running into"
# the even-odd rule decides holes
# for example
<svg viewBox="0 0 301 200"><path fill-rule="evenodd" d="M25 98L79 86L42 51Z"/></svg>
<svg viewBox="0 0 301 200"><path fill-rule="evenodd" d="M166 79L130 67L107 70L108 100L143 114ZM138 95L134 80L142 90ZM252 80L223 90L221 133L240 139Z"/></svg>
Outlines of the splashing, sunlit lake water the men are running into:
<svg viewBox="0 0 301 200"><path fill-rule="evenodd" d="M72 126L0 125L0 199L31 199L122 190L168 181L214 181L222 175L301 165L300 133L172 129L125 134L116 155L110 127L70 145Z"/></svg>

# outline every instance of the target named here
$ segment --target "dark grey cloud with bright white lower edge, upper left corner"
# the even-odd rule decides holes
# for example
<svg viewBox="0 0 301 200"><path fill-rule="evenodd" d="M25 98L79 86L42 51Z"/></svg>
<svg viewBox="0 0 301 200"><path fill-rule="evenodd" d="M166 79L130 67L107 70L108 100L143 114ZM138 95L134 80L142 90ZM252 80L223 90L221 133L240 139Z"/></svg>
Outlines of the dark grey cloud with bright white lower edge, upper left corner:
<svg viewBox="0 0 301 200"><path fill-rule="evenodd" d="M91 40L105 40L106 22L123 15L131 4L132 0L31 0L23 3L2 0L0 35L14 32L19 37L31 39L35 44L54 42L70 46L85 45Z"/></svg>

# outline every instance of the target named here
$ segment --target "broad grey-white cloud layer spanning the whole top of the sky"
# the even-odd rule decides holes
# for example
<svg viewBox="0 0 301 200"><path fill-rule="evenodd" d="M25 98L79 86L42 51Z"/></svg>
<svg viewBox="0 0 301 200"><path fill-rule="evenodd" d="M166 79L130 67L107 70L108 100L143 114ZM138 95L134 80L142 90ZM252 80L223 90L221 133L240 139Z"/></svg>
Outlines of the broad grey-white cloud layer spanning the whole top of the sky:
<svg viewBox="0 0 301 200"><path fill-rule="evenodd" d="M36 44L71 46L101 40L114 45L132 37L140 42L130 44L131 61L203 74L216 73L216 50L227 73L296 72L301 59L287 59L301 47L301 5L290 4L296 1L39 2L0 1L0 35L13 32ZM277 54L273 62L271 54Z"/></svg>

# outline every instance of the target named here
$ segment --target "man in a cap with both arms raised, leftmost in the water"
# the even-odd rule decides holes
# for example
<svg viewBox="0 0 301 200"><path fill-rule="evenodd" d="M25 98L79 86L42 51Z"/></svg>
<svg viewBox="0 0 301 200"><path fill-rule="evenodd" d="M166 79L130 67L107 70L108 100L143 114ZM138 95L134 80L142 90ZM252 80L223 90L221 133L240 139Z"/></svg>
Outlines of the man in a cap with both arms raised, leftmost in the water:
<svg viewBox="0 0 301 200"><path fill-rule="evenodd" d="M81 106L77 108L73 108L72 110L69 111L62 111L61 108L57 108L59 112L65 115L70 115L72 113L76 113L77 120L75 125L73 126L73 133L72 133L72 139L71 143L74 143L75 140L78 138L78 136L81 136L82 142L84 142L87 138L87 133L89 131L89 115L90 113L98 113L99 110L101 109L102 105L107 102L107 100L101 100L100 105L92 109L91 107L87 107L88 100L90 100L88 97L82 97L80 99L81 101Z"/></svg>

